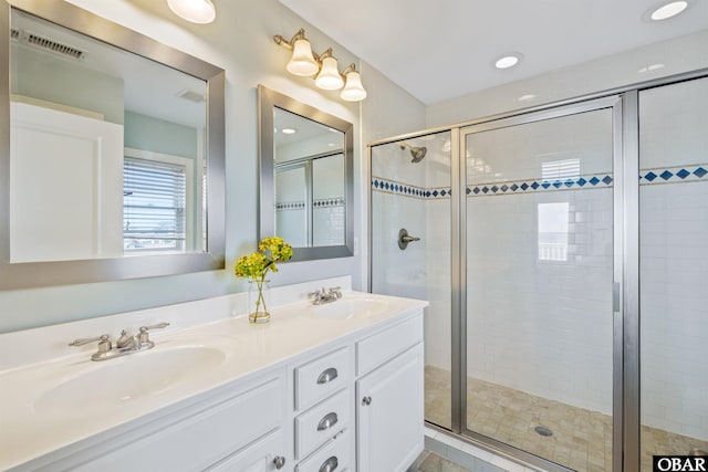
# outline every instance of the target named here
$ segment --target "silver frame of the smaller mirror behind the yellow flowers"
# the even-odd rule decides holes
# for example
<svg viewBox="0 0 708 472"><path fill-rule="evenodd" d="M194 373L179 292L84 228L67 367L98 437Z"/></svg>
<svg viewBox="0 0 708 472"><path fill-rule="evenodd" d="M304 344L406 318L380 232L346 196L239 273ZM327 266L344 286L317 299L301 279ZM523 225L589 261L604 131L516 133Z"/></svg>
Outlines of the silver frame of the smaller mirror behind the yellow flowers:
<svg viewBox="0 0 708 472"><path fill-rule="evenodd" d="M281 108L306 119L344 133L344 211L345 231L342 245L293 248L292 261L347 258L354 255L354 125L321 109L298 102L262 85L258 86L259 123L259 240L275 234L275 199L273 166L273 108Z"/></svg>

